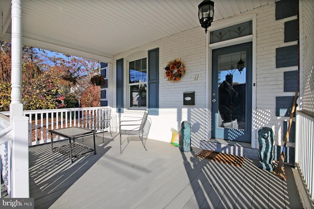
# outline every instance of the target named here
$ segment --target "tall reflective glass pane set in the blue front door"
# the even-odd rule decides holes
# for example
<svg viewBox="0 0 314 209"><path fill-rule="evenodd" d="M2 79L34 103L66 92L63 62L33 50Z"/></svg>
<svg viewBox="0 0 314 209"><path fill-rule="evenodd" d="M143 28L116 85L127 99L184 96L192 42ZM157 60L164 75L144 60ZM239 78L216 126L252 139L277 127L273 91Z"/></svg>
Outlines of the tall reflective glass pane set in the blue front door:
<svg viewBox="0 0 314 209"><path fill-rule="evenodd" d="M245 129L245 54L246 51L240 51L218 57L219 127ZM238 70L240 60L244 64Z"/></svg>

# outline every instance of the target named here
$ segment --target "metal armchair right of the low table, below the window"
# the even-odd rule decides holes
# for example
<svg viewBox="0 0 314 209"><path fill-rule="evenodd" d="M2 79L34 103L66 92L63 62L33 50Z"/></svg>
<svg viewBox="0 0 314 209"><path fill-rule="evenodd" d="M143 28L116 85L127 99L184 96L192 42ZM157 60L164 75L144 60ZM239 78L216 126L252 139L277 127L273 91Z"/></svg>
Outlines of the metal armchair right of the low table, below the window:
<svg viewBox="0 0 314 209"><path fill-rule="evenodd" d="M145 147L145 142L143 141L144 128L148 117L148 110L145 110L144 116L139 120L122 120L120 121L119 134L120 134L120 153L122 153L122 135L137 136L142 141Z"/></svg>

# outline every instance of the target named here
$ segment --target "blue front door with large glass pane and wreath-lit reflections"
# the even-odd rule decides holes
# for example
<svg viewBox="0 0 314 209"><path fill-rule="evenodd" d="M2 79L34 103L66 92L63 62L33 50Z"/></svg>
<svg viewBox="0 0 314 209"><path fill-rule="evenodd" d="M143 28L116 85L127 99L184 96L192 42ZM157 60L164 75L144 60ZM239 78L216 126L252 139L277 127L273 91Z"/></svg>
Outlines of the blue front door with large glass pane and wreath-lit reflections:
<svg viewBox="0 0 314 209"><path fill-rule="evenodd" d="M252 42L212 50L212 138L251 143Z"/></svg>

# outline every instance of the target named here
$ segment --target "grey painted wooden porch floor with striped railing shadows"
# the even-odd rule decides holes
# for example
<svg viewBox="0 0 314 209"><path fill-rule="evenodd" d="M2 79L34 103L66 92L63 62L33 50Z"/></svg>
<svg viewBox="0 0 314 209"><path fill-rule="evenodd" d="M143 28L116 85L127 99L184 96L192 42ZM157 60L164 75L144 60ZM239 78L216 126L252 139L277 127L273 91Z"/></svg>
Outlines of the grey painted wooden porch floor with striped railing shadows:
<svg viewBox="0 0 314 209"><path fill-rule="evenodd" d="M81 139L76 141L81 142ZM64 141L67 142L67 141ZM60 142L61 143L61 142ZM86 145L92 140L84 138ZM96 151L75 159L50 144L29 148L30 197L38 209L302 208L291 167L288 181L245 159L241 167L202 160L170 143L96 138Z"/></svg>

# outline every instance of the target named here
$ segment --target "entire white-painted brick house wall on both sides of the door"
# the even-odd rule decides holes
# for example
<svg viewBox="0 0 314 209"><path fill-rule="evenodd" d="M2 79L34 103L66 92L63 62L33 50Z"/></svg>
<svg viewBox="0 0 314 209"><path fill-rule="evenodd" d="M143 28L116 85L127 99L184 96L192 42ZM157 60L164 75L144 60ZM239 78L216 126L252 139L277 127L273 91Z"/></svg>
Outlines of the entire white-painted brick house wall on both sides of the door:
<svg viewBox="0 0 314 209"><path fill-rule="evenodd" d="M275 4L267 5L247 13L257 15L257 51L253 62L256 62L256 105L253 110L253 128L258 130L267 126L274 130L275 140L282 139L282 124L287 121L287 117L277 117L276 96L293 96L294 93L284 93L284 71L297 70L297 67L276 69L276 48L290 46L295 43L284 43L284 23L287 20L275 21ZM296 18L296 17L295 17ZM294 18L294 19L295 19ZM292 18L293 19L293 18ZM170 142L171 128L180 129L181 122L188 120L192 125L192 145L198 146L199 141L207 139L211 129L211 116L206 110L206 36L204 29L197 27L180 34L167 37L156 42L139 46L135 49L125 51L114 56L112 63L112 78L110 91L110 105L115 107L115 63L117 59L128 56L139 50L150 50L159 47L159 116L150 116L152 126L149 133L150 139L157 139ZM164 78L164 68L167 62L175 58L180 58L186 71L179 82L171 83ZM209 61L209 64L211 61ZM126 70L126 69L125 69ZM198 80L194 80L194 75L199 74ZM209 81L211 85L211 81ZM195 105L183 105L183 92L195 91ZM115 108L114 111L115 112ZM130 114L138 114L139 111L126 111L121 115L121 119ZM206 122L208 121L208 122ZM255 138L258 147L258 132Z"/></svg>

